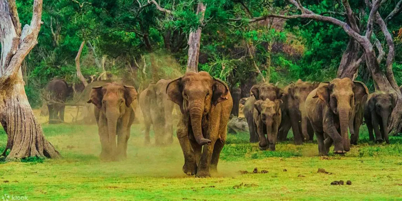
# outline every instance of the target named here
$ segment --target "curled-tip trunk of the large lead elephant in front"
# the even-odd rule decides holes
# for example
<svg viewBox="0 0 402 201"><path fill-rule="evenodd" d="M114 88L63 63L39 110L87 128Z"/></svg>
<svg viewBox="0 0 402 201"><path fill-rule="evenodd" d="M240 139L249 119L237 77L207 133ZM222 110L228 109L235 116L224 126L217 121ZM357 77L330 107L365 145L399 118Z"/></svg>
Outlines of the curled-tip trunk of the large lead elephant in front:
<svg viewBox="0 0 402 201"><path fill-rule="evenodd" d="M204 111L204 103L201 101L197 101L189 105L190 107L190 120L191 127L193 128L193 133L195 137L195 141L201 146L204 144L211 144L211 140L205 139L202 134L201 121Z"/></svg>

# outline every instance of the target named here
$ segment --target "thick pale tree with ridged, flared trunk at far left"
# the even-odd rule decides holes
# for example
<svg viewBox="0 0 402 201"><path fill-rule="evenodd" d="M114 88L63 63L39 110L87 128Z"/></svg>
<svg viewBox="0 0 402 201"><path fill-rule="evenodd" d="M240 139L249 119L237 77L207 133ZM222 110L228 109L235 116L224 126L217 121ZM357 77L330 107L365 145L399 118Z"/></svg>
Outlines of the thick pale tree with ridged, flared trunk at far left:
<svg viewBox="0 0 402 201"><path fill-rule="evenodd" d="M15 0L0 0L0 122L8 138L2 156L10 149L6 160L60 156L33 115L21 72L25 56L37 44L41 16L42 0L34 0L31 24L21 30Z"/></svg>

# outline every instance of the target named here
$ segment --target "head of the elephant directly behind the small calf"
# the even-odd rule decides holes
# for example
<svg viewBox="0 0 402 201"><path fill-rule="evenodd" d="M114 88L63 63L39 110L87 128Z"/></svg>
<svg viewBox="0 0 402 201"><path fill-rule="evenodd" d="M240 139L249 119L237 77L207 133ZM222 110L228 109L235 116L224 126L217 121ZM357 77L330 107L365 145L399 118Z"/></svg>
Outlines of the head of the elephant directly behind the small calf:
<svg viewBox="0 0 402 201"><path fill-rule="evenodd" d="M278 86L271 83L256 84L252 86L250 92L255 97L256 100L276 100L281 99L284 92Z"/></svg>

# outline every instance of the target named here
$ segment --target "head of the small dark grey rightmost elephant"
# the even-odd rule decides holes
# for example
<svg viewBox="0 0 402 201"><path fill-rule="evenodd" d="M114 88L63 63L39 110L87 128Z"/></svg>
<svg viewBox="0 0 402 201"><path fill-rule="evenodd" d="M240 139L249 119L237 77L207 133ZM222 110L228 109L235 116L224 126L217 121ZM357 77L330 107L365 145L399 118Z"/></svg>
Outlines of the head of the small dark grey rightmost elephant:
<svg viewBox="0 0 402 201"><path fill-rule="evenodd" d="M381 92L373 95L367 105L371 113L381 117L384 133L388 133L388 119L396 105L396 97L391 93Z"/></svg>

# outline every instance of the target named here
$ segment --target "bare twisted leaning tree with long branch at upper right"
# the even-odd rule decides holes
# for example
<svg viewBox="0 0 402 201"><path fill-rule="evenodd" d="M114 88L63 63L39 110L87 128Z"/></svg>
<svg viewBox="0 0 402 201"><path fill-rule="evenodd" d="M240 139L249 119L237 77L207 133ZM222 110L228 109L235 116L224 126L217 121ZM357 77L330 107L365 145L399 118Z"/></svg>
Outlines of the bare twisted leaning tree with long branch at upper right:
<svg viewBox="0 0 402 201"><path fill-rule="evenodd" d="M386 21L390 21L394 16L402 10L402 0L400 0L395 8L386 17L386 21L382 18L379 13L379 8L387 0L365 0L363 5L363 10L368 10L366 26L357 26L356 16L349 4L348 0L337 1L341 4L345 10L340 16L343 19L336 18L333 16L326 16L325 14L333 14L334 12L322 12L316 14L312 10L301 5L300 0L287 0L294 7L294 13L290 15L283 14L266 14L264 16L258 16L249 19L250 23L256 21L262 21L267 18L285 18L285 19L295 19L295 18L307 18L315 21L322 21L327 23L332 23L341 27L345 33L350 37L347 50L345 51L342 62L340 64L340 71L338 71L338 76L340 77L353 77L356 74L358 66L365 62L367 69L371 73L371 76L375 82L375 89L381 91L389 91L397 96L398 102L391 115L389 130L395 132L400 132L402 130L402 94L396 84L394 73L392 71L392 66L394 64L395 57L395 45L388 30ZM384 15L384 14L383 14ZM240 21L242 19L230 19L230 21ZM386 48L384 48L380 41L375 37L373 30L374 27L379 27L380 33L384 35L386 40ZM361 30L363 29L363 30ZM378 34L378 33L377 33ZM359 48L363 50L362 55L359 57ZM375 49L377 49L378 54ZM388 49L386 53L384 49ZM385 60L385 70L383 71L380 67L381 62L383 62L384 57L387 55Z"/></svg>

